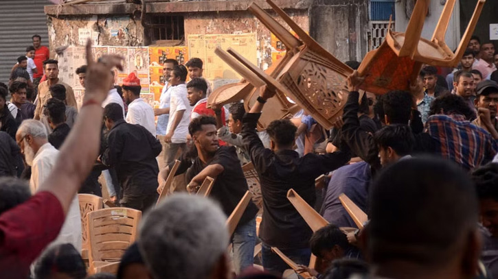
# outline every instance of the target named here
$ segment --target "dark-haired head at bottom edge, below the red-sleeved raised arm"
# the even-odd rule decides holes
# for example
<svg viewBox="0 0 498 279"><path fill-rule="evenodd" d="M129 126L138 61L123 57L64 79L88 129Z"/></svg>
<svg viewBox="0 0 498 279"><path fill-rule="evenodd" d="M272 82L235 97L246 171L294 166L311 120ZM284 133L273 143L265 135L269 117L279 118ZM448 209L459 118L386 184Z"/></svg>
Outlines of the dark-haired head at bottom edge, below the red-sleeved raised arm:
<svg viewBox="0 0 498 279"><path fill-rule="evenodd" d="M87 277L87 267L80 252L71 243L48 247L36 261L34 267L36 279L56 278L55 274L64 274L73 279Z"/></svg>

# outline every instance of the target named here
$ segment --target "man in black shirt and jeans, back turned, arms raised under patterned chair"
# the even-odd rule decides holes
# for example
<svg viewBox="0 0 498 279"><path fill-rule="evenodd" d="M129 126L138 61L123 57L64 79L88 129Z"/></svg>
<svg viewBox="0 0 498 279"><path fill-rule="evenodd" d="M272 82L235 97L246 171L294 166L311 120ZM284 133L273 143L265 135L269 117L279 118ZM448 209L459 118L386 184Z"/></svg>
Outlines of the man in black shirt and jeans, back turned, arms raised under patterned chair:
<svg viewBox="0 0 498 279"><path fill-rule="evenodd" d="M273 95L275 92L262 88L256 104L242 121L242 139L260 177L264 208L260 225L263 267L282 274L288 266L271 247L278 247L301 265L308 265L311 255L308 241L312 231L288 201L287 191L294 189L314 206L315 178L346 164L351 156L348 149L341 149L341 144L341 151L326 155L310 153L299 158L294 151L297 128L288 119L270 123L267 132L271 149L264 148L256 134L256 125L264 103Z"/></svg>

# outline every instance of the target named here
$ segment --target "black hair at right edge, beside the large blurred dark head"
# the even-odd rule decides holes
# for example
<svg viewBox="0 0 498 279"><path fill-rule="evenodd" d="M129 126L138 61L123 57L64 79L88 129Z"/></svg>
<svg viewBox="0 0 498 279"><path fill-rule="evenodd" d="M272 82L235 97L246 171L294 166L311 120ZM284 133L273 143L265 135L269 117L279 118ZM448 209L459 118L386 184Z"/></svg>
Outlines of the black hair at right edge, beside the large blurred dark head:
<svg viewBox="0 0 498 279"><path fill-rule="evenodd" d="M472 172L472 180L479 199L493 199L498 202L498 163L490 162Z"/></svg>

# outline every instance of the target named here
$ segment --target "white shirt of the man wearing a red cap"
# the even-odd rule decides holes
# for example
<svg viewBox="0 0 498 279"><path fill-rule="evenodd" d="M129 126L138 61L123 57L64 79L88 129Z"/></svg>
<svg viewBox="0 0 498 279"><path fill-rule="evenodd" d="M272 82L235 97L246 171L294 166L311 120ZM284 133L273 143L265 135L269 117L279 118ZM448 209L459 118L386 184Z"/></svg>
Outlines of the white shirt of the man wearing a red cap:
<svg viewBox="0 0 498 279"><path fill-rule="evenodd" d="M156 136L154 110L152 110L152 107L142 98L134 99L128 105L126 122L130 124L142 125L150 132L150 134L152 134L152 136Z"/></svg>

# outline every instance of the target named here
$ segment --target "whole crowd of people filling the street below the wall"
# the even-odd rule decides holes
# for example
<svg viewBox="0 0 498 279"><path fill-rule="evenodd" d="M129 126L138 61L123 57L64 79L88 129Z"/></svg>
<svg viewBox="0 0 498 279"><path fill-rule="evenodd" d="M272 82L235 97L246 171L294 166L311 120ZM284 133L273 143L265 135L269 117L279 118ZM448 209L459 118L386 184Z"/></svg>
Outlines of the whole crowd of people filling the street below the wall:
<svg viewBox="0 0 498 279"><path fill-rule="evenodd" d="M78 108L58 61L32 39L0 83L1 278L116 278L89 275L80 254L76 194L103 189L106 204L144 213L117 278L498 278L493 43L474 36L457 69L425 65L409 91L365 93L354 71L343 115L326 131L304 111L258 129L275 95L266 86L249 109L208 104L199 58L164 61L166 84L151 108L135 73L115 84L122 58L95 61L90 43L76 70L85 88ZM259 189L242 171L248 162ZM164 189L168 175L176 181ZM189 195L207 177L209 198ZM290 189L330 224L313 232ZM157 204L162 191L172 195ZM227 216L246 191L255 197L229 235ZM363 226L341 194L367 213Z"/></svg>

